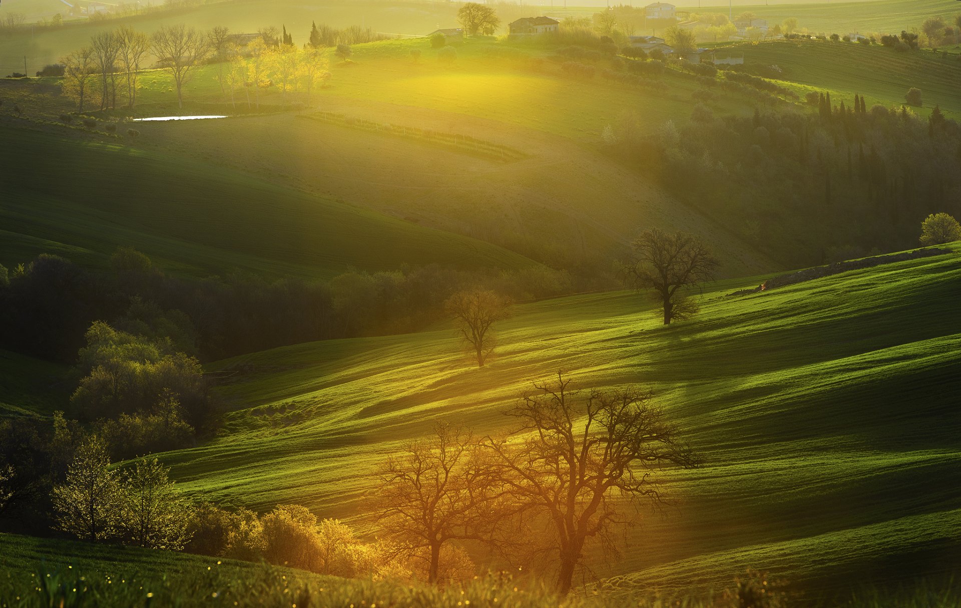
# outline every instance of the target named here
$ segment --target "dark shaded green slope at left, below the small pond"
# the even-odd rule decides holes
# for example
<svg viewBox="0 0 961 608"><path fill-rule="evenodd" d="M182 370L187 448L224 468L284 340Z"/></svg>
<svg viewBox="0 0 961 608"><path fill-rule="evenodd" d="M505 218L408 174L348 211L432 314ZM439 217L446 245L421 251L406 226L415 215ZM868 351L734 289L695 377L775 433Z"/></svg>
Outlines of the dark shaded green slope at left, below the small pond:
<svg viewBox="0 0 961 608"><path fill-rule="evenodd" d="M58 253L103 266L133 245L210 274L333 276L404 264L530 266L483 241L306 194L241 171L120 144L4 129L0 261Z"/></svg>

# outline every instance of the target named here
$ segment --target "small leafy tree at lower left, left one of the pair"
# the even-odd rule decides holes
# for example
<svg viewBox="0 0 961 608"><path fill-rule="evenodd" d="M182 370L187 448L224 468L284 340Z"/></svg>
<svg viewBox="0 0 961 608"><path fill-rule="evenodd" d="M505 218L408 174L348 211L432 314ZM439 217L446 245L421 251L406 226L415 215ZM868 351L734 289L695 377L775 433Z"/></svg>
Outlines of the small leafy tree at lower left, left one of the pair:
<svg viewBox="0 0 961 608"><path fill-rule="evenodd" d="M107 445L98 437L77 448L66 480L51 496L59 529L91 542L116 536L123 492L110 466Z"/></svg>

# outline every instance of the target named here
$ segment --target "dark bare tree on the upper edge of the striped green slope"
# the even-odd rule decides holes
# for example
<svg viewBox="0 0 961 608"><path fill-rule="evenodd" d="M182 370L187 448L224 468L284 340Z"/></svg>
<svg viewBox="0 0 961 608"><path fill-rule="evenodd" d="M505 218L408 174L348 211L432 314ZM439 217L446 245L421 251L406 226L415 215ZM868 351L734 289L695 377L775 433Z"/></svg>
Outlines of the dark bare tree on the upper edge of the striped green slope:
<svg viewBox="0 0 961 608"><path fill-rule="evenodd" d="M664 309L664 324L689 318L697 303L684 289L714 278L720 263L693 235L645 231L632 243L633 255L622 265L628 284L637 291L652 290Z"/></svg>

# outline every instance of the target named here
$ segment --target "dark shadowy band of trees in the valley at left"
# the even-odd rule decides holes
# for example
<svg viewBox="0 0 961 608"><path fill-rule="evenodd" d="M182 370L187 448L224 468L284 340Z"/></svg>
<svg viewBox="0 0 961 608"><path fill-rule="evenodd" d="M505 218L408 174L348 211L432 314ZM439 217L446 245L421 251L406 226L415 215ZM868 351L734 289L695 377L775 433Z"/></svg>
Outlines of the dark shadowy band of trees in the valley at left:
<svg viewBox="0 0 961 608"><path fill-rule="evenodd" d="M590 279L545 266L497 271L451 266L348 271L330 281L229 274L202 280L164 273L121 248L97 273L41 255L0 269L0 348L72 364L97 320L212 361L285 344L416 331L444 317L464 287L513 300L592 289Z"/></svg>

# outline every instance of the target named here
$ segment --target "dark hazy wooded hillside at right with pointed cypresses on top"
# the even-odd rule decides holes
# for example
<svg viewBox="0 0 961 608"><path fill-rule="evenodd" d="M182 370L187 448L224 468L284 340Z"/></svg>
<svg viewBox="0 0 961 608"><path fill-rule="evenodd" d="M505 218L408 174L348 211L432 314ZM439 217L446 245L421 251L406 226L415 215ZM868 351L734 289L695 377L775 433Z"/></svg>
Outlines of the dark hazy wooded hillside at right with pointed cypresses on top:
<svg viewBox="0 0 961 608"><path fill-rule="evenodd" d="M626 115L609 139L690 204L787 266L914 245L924 216L957 215L961 129L940 111L846 105L716 117L643 135Z"/></svg>

